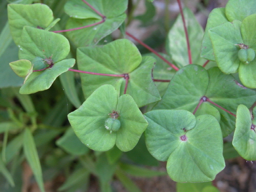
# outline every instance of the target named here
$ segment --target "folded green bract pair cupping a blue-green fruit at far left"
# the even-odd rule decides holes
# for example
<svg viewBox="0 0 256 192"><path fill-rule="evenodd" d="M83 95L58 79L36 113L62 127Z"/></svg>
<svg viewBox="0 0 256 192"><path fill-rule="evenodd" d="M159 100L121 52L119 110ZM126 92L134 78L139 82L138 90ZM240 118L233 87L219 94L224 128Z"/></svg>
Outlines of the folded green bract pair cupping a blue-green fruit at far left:
<svg viewBox="0 0 256 192"><path fill-rule="evenodd" d="M33 27L24 27L22 38L19 41L19 58L28 59L29 61L26 63L31 62L33 70L50 67L48 61L53 62L53 66L27 76L28 78L25 79L19 92L31 94L49 89L61 73L75 65L75 59L62 60L67 57L69 51L69 41L63 35ZM23 60L16 61L18 65L21 65L20 62Z"/></svg>

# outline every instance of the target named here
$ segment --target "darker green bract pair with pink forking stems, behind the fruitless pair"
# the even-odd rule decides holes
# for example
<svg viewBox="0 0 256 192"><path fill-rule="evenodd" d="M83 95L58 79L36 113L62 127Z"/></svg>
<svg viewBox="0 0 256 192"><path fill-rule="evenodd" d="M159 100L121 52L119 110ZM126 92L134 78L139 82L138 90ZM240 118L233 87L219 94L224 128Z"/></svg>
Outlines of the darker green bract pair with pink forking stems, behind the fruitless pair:
<svg viewBox="0 0 256 192"><path fill-rule="evenodd" d="M256 92L246 89L232 75L223 74L217 67L205 70L198 65L188 65L174 75L162 100L154 109L183 109L194 112L204 96L236 113L239 104L249 108L254 103ZM201 106L197 114L210 114L218 120L220 118L223 137L234 129L235 118L211 103Z"/></svg>

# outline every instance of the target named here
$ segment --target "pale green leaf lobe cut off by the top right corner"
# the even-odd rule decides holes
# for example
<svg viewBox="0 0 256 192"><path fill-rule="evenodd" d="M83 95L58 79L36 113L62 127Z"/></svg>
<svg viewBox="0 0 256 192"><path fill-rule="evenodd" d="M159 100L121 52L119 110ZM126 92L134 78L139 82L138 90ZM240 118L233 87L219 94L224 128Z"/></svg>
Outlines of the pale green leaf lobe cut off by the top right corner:
<svg viewBox="0 0 256 192"><path fill-rule="evenodd" d="M226 15L230 22L240 20L256 13L256 5L253 0L229 0L226 5Z"/></svg>

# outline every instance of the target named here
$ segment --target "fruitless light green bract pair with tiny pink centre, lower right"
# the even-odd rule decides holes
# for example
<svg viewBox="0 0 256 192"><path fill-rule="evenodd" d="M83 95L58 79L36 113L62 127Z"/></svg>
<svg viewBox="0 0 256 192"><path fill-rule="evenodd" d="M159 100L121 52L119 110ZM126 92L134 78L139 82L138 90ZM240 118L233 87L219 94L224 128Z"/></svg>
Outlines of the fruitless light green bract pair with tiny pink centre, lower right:
<svg viewBox="0 0 256 192"><path fill-rule="evenodd" d="M145 116L148 151L158 160L168 159L167 172L174 181L211 181L225 167L222 133L215 117L196 118L185 110L156 110Z"/></svg>

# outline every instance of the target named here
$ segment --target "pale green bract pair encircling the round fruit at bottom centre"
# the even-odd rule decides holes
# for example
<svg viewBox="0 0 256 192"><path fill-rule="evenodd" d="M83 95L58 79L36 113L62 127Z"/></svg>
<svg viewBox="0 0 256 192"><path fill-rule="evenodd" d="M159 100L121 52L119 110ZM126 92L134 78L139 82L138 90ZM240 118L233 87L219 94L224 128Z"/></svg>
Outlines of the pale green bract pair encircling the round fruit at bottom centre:
<svg viewBox="0 0 256 192"><path fill-rule="evenodd" d="M147 121L133 98L118 95L113 86L106 84L68 115L77 137L92 150L108 151L116 144L121 151L130 151L146 129ZM113 110L120 112L120 129L110 133L105 128L105 120Z"/></svg>

